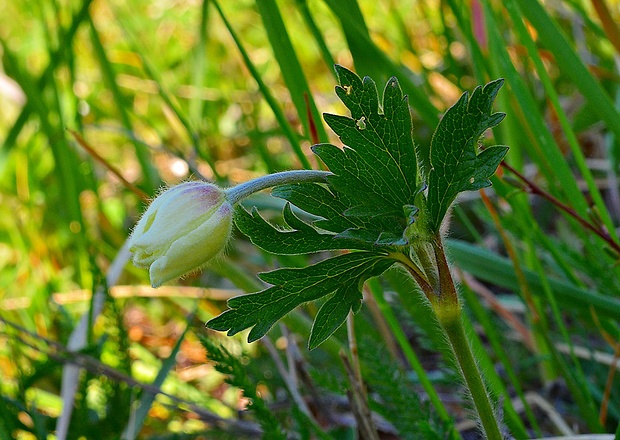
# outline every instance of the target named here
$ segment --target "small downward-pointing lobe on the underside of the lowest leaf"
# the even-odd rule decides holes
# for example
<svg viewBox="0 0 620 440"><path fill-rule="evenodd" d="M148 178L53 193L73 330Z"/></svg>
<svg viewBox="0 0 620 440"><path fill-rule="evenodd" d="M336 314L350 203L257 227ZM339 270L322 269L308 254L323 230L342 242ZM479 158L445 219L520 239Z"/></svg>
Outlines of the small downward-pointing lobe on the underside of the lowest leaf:
<svg viewBox="0 0 620 440"><path fill-rule="evenodd" d="M362 307L362 294L358 286L349 285L338 289L325 301L314 318L308 348L310 350L321 345L347 319L349 312L357 313Z"/></svg>

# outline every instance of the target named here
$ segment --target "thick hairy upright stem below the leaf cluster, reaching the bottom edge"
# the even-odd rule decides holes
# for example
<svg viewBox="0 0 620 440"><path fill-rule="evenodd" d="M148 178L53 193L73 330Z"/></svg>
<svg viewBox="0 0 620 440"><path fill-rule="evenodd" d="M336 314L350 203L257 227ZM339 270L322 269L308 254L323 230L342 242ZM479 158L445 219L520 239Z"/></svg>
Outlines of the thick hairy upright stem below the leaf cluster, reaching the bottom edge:
<svg viewBox="0 0 620 440"><path fill-rule="evenodd" d="M434 304L437 318L448 336L459 370L463 379L465 379L474 406L478 412L485 438L489 440L502 440L503 437L493 411L489 393L482 380L478 364L474 359L469 339L465 334L459 299L443 250L441 237L437 237L434 249L441 292L439 301Z"/></svg>

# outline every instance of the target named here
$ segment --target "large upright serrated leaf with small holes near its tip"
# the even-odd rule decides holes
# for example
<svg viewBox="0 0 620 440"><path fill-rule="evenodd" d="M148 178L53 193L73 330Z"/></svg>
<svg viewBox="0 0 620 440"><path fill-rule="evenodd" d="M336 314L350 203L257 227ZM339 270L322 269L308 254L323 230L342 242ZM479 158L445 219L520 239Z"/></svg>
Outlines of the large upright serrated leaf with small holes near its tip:
<svg viewBox="0 0 620 440"><path fill-rule="evenodd" d="M402 217L403 205L413 204L417 164L411 137L407 97L393 77L379 107L377 88L368 77L336 66L336 93L352 117L325 114L325 122L345 144L313 147L334 176L329 183L361 205L381 207L384 215Z"/></svg>

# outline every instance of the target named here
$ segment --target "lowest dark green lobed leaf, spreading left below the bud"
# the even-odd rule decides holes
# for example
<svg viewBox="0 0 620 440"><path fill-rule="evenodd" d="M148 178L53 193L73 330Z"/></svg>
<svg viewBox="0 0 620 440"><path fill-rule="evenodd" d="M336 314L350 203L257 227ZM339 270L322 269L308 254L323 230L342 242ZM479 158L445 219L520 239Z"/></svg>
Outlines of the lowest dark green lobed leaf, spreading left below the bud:
<svg viewBox="0 0 620 440"><path fill-rule="evenodd" d="M337 312L330 311L335 307L328 306L319 315L318 325L315 322L310 335L313 347L316 347L342 324L346 318L346 314L342 316L342 310L347 305L349 309L359 309L350 289L359 293L366 279L380 275L393 263L384 254L354 252L303 269L279 269L263 273L260 278L272 284L272 287L230 299L230 309L209 321L207 327L228 331L229 336L252 327L248 341L253 342L263 337L279 319L299 305L336 292L331 300L337 298L334 301L343 301L345 305L336 307Z"/></svg>

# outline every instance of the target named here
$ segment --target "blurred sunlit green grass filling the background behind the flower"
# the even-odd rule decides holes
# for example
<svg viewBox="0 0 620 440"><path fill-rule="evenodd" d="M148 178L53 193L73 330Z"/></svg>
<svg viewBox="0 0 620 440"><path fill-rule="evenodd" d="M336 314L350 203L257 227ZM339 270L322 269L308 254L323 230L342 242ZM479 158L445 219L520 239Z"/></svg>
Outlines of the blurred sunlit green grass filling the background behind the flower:
<svg viewBox="0 0 620 440"><path fill-rule="evenodd" d="M69 417L58 407L66 350L82 314L96 310L90 293L102 291L112 293L103 312L87 319L83 344L71 349L83 369L74 377L71 438L113 438L124 430L139 438L253 438L272 418L261 412L238 419L247 402L234 384L255 387L249 395L258 390L261 411L270 410L285 430L353 438L351 427L324 422L321 411L304 414L290 396L293 384L312 407L316 399L342 401L349 386L338 355L348 345L345 330L315 351L305 349L313 306L268 335L288 375L261 343L203 326L225 307L222 296L260 289L257 272L307 261L263 253L239 234L214 267L180 287L148 290L147 273L120 251L143 200L108 168L150 197L191 174L226 185L283 169L319 169L311 144L339 144L320 116L342 113L334 62L377 83L397 76L409 95L414 138L425 148L461 92L505 78L497 109L507 117L487 135L494 138L489 144L509 145L511 166L609 241L557 204L528 195L507 169L486 192L486 205L467 194L452 216L449 254L478 280L463 277L460 286L477 361L517 438L562 434L528 398L534 394L578 433L615 432L620 268L609 243L617 243L620 222L620 73L607 34L613 23L605 19L604 26L590 2L472 4L9 2L0 16L0 81L8 84L0 87L0 395L7 408L0 411L0 436L43 438ZM428 157L419 159L428 166ZM280 221L277 200L253 202ZM142 290L121 295L110 280ZM194 287L211 290L197 299ZM394 371L430 401L420 414L445 424L402 437L450 432L462 421L454 415L470 404L450 359L441 356L445 341L423 312L422 296L404 293L411 286L392 272L368 289L375 301L366 301L355 326L371 408L383 414L407 402L373 395L394 386L364 364L373 359L364 349L392 341ZM70 293L81 299L69 301ZM188 319L193 311L196 318ZM244 366L247 377L227 383L207 362L204 337L224 345L239 361L235 374ZM153 398L157 389L169 396Z"/></svg>

